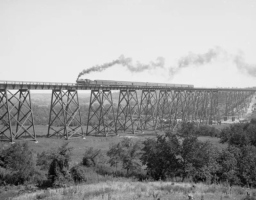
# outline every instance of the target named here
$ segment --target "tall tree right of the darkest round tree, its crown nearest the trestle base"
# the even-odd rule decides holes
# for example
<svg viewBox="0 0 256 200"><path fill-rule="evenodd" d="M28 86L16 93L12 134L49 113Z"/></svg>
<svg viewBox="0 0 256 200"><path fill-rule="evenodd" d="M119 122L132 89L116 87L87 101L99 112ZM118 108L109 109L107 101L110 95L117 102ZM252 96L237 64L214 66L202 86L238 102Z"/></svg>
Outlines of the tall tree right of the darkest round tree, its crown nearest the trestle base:
<svg viewBox="0 0 256 200"><path fill-rule="evenodd" d="M201 130L193 122L184 122L178 130L178 136L182 139L179 155L179 174L182 181L192 176L195 181L206 181L217 179L219 165L216 161L218 150L210 141L201 142L197 135Z"/></svg>

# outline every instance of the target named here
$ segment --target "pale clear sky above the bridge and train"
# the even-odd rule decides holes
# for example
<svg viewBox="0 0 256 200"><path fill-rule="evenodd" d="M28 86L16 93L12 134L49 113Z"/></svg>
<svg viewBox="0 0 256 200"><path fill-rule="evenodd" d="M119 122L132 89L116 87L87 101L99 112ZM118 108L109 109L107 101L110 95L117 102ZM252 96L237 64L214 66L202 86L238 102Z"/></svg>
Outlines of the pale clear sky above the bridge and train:
<svg viewBox="0 0 256 200"><path fill-rule="evenodd" d="M1 0L0 80L74 83L124 55L137 71L115 64L80 78L256 86L255 2Z"/></svg>

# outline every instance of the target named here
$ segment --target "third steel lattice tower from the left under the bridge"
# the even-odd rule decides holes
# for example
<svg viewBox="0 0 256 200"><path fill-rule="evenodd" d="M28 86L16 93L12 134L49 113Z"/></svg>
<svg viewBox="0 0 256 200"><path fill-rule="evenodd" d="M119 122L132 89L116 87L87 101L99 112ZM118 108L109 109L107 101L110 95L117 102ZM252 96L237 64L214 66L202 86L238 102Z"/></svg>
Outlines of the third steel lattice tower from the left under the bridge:
<svg viewBox="0 0 256 200"><path fill-rule="evenodd" d="M116 118L111 90L92 90L86 135L116 134Z"/></svg>

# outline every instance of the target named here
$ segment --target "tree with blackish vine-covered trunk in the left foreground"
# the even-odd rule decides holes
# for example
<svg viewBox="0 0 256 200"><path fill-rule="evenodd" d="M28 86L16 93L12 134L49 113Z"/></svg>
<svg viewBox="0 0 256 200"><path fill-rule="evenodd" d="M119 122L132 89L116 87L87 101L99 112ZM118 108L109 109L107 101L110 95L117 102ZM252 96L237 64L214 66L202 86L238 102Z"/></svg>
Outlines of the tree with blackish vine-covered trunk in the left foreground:
<svg viewBox="0 0 256 200"><path fill-rule="evenodd" d="M67 170L73 148L68 147L68 143L65 142L61 146L37 154L36 165L40 166L42 170L48 170L48 179L51 179L52 183L60 182L61 185L69 178Z"/></svg>

